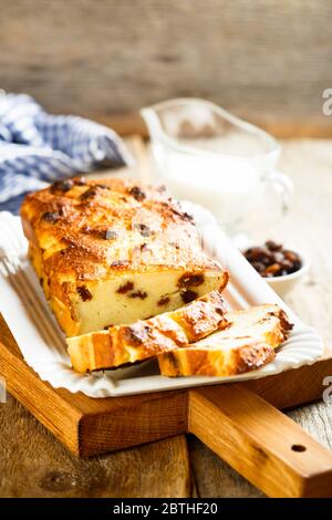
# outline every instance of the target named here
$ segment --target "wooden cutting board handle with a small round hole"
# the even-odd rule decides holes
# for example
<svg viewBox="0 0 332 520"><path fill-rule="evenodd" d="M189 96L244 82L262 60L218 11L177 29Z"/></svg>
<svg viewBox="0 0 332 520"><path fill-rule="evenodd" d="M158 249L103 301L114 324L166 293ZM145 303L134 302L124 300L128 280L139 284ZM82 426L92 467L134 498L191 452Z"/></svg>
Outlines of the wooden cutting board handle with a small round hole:
<svg viewBox="0 0 332 520"><path fill-rule="evenodd" d="M332 451L237 385L189 393L188 430L269 497L332 497Z"/></svg>

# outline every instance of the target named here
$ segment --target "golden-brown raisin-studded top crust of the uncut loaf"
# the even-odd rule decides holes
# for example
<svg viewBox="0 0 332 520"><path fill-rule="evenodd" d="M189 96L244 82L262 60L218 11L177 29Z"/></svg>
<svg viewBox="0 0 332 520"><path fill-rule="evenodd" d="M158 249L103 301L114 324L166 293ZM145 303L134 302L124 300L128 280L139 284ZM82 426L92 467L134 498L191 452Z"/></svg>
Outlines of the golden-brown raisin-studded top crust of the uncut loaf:
<svg viewBox="0 0 332 520"><path fill-rule="evenodd" d="M219 269L201 251L190 216L157 188L120 179L70 180L66 191L51 186L28 195L21 208L25 236L42 250L45 272L95 280L107 275L113 257L113 269L135 270L133 254L142 246L149 254L139 254L139 269ZM144 198L137 200L135 188ZM158 256L162 246L167 262Z"/></svg>

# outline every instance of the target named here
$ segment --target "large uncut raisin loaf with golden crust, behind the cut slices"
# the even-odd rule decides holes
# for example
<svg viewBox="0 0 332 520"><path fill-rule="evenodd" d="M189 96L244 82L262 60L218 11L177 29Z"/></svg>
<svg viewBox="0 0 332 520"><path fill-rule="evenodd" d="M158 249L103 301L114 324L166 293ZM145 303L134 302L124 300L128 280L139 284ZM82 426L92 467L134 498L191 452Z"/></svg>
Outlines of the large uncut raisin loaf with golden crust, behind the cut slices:
<svg viewBox="0 0 332 520"><path fill-rule="evenodd" d="M29 254L68 336L173 311L228 281L158 187L65 179L21 208Z"/></svg>

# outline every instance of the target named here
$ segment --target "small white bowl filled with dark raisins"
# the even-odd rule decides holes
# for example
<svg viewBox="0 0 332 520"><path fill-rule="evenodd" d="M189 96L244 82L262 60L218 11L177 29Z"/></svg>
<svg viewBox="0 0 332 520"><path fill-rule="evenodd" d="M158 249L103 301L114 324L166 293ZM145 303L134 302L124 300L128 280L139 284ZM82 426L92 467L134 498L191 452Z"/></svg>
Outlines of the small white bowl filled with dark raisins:
<svg viewBox="0 0 332 520"><path fill-rule="evenodd" d="M242 253L281 297L287 294L309 269L309 262L304 260L303 254L273 240L267 240L263 246L252 246Z"/></svg>

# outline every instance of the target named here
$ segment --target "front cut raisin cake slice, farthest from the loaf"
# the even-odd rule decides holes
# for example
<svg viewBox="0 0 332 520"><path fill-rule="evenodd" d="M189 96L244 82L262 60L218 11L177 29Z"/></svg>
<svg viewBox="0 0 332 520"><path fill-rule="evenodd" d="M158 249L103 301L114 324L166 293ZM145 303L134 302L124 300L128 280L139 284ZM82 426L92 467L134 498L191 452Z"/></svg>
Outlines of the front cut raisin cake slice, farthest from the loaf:
<svg viewBox="0 0 332 520"><path fill-rule="evenodd" d="M184 349L158 356L162 375L228 376L271 362L274 349L287 340L292 324L278 305L228 312L229 325Z"/></svg>

